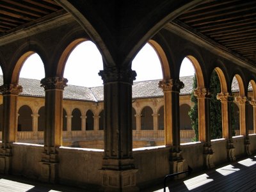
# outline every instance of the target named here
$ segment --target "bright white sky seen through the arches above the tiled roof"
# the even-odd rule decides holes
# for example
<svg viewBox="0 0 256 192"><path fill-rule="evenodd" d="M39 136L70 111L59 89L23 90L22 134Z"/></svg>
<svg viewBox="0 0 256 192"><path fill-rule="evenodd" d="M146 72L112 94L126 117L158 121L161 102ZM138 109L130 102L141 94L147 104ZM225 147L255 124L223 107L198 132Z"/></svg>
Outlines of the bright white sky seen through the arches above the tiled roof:
<svg viewBox="0 0 256 192"><path fill-rule="evenodd" d="M147 68L147 70L145 70ZM64 77L68 84L77 86L102 86L102 79L98 75L103 69L102 57L93 42L83 42L71 52L68 57ZM162 79L162 70L156 51L151 45L146 44L132 61L132 70L137 73L136 81ZM184 58L180 76L192 76L195 73L191 62ZM20 77L29 79L43 79L45 76L44 65L38 54L32 54L24 62Z"/></svg>

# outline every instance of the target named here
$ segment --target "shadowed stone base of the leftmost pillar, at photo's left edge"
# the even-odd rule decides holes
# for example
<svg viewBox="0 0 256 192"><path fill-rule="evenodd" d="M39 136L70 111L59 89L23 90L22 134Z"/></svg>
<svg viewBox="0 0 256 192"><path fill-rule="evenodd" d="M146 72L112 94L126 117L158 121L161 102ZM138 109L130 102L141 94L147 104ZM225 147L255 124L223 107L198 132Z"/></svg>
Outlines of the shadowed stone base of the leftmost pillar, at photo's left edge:
<svg viewBox="0 0 256 192"><path fill-rule="evenodd" d="M10 162L12 160L12 149L1 148L0 149L0 173L10 173Z"/></svg>

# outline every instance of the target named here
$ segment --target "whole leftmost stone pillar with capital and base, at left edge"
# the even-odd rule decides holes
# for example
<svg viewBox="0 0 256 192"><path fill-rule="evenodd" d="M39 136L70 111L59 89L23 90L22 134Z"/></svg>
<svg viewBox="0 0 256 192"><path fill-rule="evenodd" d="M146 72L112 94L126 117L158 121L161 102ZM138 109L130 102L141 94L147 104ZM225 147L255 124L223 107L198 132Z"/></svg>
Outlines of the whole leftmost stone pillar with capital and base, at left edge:
<svg viewBox="0 0 256 192"><path fill-rule="evenodd" d="M10 173L12 160L12 143L17 135L17 98L22 92L19 84L3 84L0 86L3 94L3 130L2 148L0 149L0 173Z"/></svg>

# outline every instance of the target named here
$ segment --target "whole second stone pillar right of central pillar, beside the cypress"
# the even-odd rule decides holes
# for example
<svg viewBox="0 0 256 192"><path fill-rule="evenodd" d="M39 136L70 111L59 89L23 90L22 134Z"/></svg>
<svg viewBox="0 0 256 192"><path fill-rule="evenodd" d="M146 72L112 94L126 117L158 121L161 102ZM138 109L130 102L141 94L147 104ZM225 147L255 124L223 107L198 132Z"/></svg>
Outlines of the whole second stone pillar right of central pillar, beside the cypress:
<svg viewBox="0 0 256 192"><path fill-rule="evenodd" d="M204 160L207 168L213 168L213 152L210 136L210 93L207 88L198 87L194 91L198 100L198 140L204 142Z"/></svg>

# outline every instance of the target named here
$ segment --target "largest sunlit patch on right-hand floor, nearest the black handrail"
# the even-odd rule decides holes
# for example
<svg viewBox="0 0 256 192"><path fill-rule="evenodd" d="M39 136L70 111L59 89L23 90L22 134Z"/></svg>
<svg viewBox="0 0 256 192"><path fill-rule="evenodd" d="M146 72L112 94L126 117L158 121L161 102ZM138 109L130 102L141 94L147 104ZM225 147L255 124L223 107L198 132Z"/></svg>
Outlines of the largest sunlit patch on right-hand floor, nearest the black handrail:
<svg viewBox="0 0 256 192"><path fill-rule="evenodd" d="M186 185L188 190L192 190L212 181L213 179L209 179L209 175L204 173L197 177L193 177L192 179L184 180L184 184Z"/></svg>

